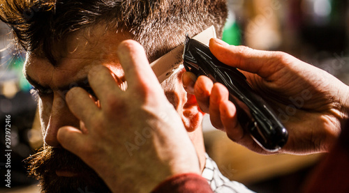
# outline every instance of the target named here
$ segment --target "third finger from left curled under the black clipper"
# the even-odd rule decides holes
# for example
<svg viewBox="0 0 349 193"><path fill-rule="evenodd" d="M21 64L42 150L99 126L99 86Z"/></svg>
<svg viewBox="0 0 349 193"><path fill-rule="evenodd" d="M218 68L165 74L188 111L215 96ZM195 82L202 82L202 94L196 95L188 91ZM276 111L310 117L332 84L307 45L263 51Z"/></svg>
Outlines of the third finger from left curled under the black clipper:
<svg viewBox="0 0 349 193"><path fill-rule="evenodd" d="M219 107L221 102L229 100L229 92L228 89L223 86L223 84L215 83L211 96L209 98L209 114L212 125L218 130L223 130L223 123L221 121L221 112L219 111Z"/></svg>

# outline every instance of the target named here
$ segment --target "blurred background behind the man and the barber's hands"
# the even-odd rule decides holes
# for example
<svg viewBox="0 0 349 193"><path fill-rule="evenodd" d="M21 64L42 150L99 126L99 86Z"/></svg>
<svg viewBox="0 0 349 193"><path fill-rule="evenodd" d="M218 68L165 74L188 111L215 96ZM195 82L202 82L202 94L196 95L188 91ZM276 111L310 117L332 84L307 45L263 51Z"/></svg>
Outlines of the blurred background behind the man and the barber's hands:
<svg viewBox="0 0 349 193"><path fill-rule="evenodd" d="M349 5L334 0L228 0L230 14L223 40L231 45L279 50L311 63L349 84ZM17 53L10 31L0 23L0 145L5 149L6 115L11 124L11 188L0 192L38 192L23 162L42 145L34 123L36 100L22 75L24 54ZM204 120L207 153L222 173L256 192L299 192L322 155L258 155L234 144ZM4 151L2 151L4 153ZM0 156L1 178L6 157ZM29 186L24 190L22 187Z"/></svg>

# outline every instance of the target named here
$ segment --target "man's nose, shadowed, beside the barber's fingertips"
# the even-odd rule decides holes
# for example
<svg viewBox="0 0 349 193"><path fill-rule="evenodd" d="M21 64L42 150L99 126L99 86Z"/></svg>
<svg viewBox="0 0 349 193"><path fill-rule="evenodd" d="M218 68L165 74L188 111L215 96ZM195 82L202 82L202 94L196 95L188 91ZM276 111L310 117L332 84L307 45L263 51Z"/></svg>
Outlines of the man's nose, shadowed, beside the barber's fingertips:
<svg viewBox="0 0 349 193"><path fill-rule="evenodd" d="M79 120L69 110L64 96L54 94L49 120L46 125L44 141L52 147L59 147L57 132L63 126L79 127Z"/></svg>

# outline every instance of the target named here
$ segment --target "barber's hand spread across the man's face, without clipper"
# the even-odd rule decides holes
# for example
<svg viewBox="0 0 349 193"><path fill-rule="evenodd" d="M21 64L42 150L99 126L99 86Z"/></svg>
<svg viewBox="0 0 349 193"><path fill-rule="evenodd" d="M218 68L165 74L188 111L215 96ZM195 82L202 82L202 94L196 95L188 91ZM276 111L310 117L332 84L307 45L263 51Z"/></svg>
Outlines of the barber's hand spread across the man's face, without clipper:
<svg viewBox="0 0 349 193"><path fill-rule="evenodd" d="M99 105L82 88L66 95L82 121L60 128L61 145L86 162L113 192L150 192L179 173L200 173L198 157L177 111L168 102L141 45L126 40L119 60L128 88L121 91L102 65L89 71Z"/></svg>

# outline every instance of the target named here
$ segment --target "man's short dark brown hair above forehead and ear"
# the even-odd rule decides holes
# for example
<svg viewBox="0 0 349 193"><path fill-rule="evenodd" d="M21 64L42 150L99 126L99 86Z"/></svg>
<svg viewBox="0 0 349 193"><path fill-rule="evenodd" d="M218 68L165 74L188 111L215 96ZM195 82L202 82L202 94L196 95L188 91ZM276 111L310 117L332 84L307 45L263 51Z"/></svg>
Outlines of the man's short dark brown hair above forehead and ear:
<svg viewBox="0 0 349 193"><path fill-rule="evenodd" d="M218 37L227 17L225 0L1 0L0 20L27 52L43 52L55 65L52 45L96 24L126 30L149 61L214 25Z"/></svg>

